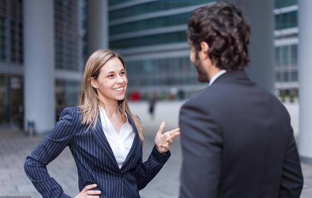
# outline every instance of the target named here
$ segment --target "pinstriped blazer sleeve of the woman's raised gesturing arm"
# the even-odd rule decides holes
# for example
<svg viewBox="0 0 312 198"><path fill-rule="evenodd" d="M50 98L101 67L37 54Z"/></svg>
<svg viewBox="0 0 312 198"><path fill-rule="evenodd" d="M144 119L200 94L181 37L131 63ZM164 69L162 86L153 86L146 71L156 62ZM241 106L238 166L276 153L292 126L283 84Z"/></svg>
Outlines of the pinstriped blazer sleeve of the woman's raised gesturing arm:
<svg viewBox="0 0 312 198"><path fill-rule="evenodd" d="M143 163L141 149L141 158L137 164L135 174L139 190L142 190L157 175L162 166L169 159L170 155L170 151L167 151L165 154L159 153L156 145L154 145L149 158Z"/></svg>

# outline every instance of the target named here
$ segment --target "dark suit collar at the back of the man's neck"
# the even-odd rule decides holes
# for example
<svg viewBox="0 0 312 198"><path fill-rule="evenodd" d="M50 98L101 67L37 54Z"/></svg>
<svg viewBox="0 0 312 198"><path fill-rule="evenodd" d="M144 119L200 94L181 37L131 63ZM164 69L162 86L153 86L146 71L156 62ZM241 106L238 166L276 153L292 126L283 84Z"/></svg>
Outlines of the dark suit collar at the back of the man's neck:
<svg viewBox="0 0 312 198"><path fill-rule="evenodd" d="M222 74L217 79L215 79L215 82L211 86L221 82L232 81L250 81L250 79L244 69L237 69L234 71L227 71L226 73Z"/></svg>

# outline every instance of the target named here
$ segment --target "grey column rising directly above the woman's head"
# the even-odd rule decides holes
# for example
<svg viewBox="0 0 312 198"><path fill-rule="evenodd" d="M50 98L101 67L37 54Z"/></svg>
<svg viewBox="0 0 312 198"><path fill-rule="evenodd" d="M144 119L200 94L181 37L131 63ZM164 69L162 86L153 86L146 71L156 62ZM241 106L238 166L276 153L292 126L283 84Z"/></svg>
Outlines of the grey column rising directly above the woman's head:
<svg viewBox="0 0 312 198"><path fill-rule="evenodd" d="M88 1L88 55L108 48L108 1Z"/></svg>

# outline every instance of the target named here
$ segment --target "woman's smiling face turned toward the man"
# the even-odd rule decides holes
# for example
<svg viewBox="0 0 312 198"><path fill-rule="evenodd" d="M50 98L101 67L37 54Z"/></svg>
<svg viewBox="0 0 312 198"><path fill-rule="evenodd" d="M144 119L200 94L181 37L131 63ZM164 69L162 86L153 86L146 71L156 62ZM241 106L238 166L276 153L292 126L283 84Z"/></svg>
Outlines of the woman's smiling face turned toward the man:
<svg viewBox="0 0 312 198"><path fill-rule="evenodd" d="M125 69L118 58L111 58L100 68L98 78L91 81L97 89L99 98L105 102L123 100L128 80Z"/></svg>

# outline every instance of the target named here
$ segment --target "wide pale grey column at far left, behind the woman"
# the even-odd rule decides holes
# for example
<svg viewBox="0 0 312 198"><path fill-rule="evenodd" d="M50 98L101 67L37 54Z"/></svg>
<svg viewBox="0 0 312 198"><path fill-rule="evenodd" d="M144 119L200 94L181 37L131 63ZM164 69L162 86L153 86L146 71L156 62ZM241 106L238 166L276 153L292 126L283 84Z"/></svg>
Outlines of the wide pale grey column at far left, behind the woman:
<svg viewBox="0 0 312 198"><path fill-rule="evenodd" d="M23 3L24 104L27 121L35 132L50 132L55 125L55 64L53 0Z"/></svg>

